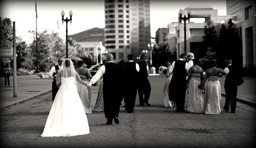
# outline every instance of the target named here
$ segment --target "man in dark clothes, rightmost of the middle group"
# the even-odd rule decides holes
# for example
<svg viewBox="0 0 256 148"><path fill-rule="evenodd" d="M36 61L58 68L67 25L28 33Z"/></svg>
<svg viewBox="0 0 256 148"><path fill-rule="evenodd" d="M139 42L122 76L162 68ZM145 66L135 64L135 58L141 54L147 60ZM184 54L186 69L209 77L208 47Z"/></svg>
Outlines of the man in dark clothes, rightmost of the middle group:
<svg viewBox="0 0 256 148"><path fill-rule="evenodd" d="M139 85L138 85L140 106L144 106L145 104L147 104L148 106L151 106L151 104L149 103L151 85L150 85L150 82L148 79L149 66L146 62L147 57L146 57L146 55L141 55L140 58L141 59L138 62L139 66L140 66ZM144 98L143 98L143 95L144 95Z"/></svg>

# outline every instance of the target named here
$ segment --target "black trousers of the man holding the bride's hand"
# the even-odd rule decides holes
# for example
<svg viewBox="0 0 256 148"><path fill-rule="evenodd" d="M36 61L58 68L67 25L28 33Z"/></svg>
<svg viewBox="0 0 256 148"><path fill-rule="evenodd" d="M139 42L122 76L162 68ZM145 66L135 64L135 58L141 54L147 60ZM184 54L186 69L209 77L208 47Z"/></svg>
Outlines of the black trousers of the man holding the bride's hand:
<svg viewBox="0 0 256 148"><path fill-rule="evenodd" d="M112 122L113 115L118 117L120 111L120 102L119 97L116 95L116 92L113 90L108 90L102 88L103 90L103 105L104 105L104 114L108 122Z"/></svg>

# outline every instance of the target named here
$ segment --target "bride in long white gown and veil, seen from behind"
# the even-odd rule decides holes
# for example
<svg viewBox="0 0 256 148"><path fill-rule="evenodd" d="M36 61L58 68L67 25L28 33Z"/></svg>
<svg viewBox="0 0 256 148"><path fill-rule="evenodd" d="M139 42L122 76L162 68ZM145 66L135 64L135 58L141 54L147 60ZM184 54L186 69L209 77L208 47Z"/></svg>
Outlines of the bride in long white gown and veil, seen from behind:
<svg viewBox="0 0 256 148"><path fill-rule="evenodd" d="M77 92L77 84L87 86L75 71L72 61L67 58L63 69L57 74L60 88L55 96L41 136L74 136L89 133L89 125L83 104Z"/></svg>

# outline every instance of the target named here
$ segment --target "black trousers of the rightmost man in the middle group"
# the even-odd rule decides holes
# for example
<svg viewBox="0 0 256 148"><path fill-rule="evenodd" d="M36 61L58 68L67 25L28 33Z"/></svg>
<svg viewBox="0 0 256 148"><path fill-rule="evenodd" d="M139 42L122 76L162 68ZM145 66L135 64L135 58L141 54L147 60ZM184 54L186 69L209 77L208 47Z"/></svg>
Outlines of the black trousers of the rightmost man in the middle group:
<svg viewBox="0 0 256 148"><path fill-rule="evenodd" d="M140 104L148 103L150 98L151 85L149 79L140 79L138 84L138 93ZM143 98L144 96L144 98Z"/></svg>

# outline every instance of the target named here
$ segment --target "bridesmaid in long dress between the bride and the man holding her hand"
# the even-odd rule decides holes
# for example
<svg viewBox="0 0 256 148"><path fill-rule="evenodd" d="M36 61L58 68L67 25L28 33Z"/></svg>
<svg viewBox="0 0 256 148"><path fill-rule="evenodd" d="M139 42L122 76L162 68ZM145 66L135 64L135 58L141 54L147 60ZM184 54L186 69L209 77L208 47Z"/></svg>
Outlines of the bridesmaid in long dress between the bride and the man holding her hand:
<svg viewBox="0 0 256 148"><path fill-rule="evenodd" d="M77 66L78 68L76 68L75 70L77 71L77 73L80 75L81 79L84 80L85 82L89 83L90 82L90 78L92 78L91 72L85 68L86 65L84 63L83 60L78 60L77 61ZM91 111L91 89L88 89L87 87L81 85L80 83L77 83L77 87L78 87L78 94L81 98L81 101L83 103L84 106L84 110L87 114L92 113Z"/></svg>

